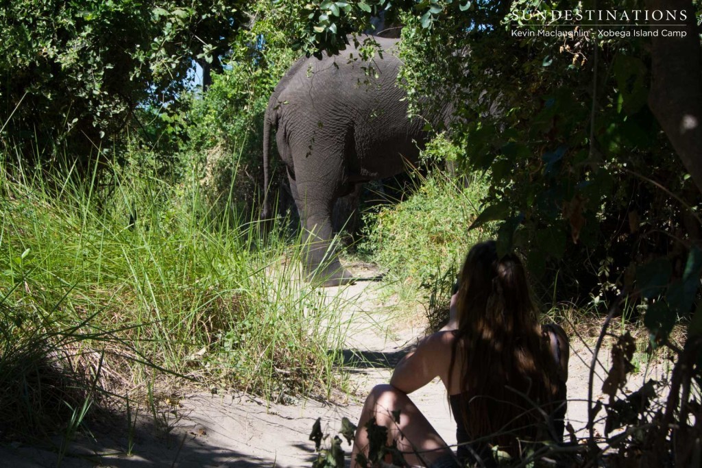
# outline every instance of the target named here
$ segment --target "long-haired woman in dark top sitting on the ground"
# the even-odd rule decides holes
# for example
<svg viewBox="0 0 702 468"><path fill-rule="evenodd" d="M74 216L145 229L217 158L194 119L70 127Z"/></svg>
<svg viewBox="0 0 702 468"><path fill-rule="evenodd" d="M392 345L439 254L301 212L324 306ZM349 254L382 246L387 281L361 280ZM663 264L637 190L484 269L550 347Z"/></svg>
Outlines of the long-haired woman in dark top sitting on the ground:
<svg viewBox="0 0 702 468"><path fill-rule="evenodd" d="M538 324L522 262L514 254L499 258L494 241L479 243L459 284L449 324L422 340L398 363L390 385L374 387L366 399L352 468L368 451L364 426L371 417L388 427L388 443L397 441L411 465L489 466L496 448L519 457L534 441L562 441L568 339L559 326ZM456 419L455 455L407 396L437 376Z"/></svg>

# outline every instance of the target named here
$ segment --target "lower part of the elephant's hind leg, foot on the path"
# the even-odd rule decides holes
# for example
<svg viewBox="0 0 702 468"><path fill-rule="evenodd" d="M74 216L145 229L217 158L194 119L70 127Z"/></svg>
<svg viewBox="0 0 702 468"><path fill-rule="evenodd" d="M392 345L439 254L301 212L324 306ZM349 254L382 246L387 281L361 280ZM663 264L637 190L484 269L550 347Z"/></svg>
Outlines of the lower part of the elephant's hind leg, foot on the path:
<svg viewBox="0 0 702 468"><path fill-rule="evenodd" d="M333 187L294 180L290 174L288 178L303 224L307 279L324 287L350 283L352 276L341 266L332 242L331 210L336 201Z"/></svg>

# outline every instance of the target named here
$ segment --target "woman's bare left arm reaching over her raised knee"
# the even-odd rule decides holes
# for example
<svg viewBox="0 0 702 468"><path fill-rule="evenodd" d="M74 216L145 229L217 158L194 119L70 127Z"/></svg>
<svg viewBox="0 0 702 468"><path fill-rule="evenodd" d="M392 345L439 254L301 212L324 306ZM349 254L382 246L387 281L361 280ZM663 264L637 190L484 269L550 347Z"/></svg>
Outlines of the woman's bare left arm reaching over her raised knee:
<svg viewBox="0 0 702 468"><path fill-rule="evenodd" d="M404 393L414 392L434 377L445 380L451 359L452 332L438 332L425 337L417 348L399 361L390 377L390 385Z"/></svg>

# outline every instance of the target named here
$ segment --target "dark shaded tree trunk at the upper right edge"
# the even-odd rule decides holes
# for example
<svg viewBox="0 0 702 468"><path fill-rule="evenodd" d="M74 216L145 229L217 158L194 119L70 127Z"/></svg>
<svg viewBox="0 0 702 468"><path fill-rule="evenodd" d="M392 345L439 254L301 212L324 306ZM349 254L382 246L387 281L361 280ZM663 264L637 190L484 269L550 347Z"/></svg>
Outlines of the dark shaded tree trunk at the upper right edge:
<svg viewBox="0 0 702 468"><path fill-rule="evenodd" d="M663 11L663 20L650 22L657 36L651 38L649 106L702 192L702 65L695 8L691 0L647 0L647 7L649 13ZM677 20L665 20L666 11L677 11ZM681 11L687 20L680 20Z"/></svg>

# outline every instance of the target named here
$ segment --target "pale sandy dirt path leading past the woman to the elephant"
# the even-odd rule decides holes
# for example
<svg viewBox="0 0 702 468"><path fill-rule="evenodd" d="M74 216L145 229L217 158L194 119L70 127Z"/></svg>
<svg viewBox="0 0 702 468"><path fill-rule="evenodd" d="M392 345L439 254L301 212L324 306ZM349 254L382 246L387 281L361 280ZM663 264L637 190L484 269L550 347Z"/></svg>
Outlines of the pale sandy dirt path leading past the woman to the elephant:
<svg viewBox="0 0 702 468"><path fill-rule="evenodd" d="M357 276L376 275L363 266L352 268ZM392 367L418 337L421 319L400 319L394 304L380 300L379 283L359 281L352 286L329 288L330 296L344 295L355 307L345 311L347 332L345 361L352 389L365 394L373 385L388 382ZM353 300L355 299L355 300ZM587 420L588 366L591 354L583 345L571 350L567 418L584 434ZM601 369L595 389L602 387ZM601 398L601 396L599 396ZM449 416L444 387L439 380L411 395L413 401L447 443L455 443L455 423ZM271 403L245 394L192 394L180 401L176 414L166 415L157 427L144 417L133 436L133 454L126 456L129 440L124 427L106 427L95 440L84 438L69 448L65 467L310 467L314 446L308 441L312 424L320 417L322 430L336 434L343 416L355 422L362 398L350 396L343 404L308 399L289 404ZM290 404L292 403L292 404ZM601 431L602 429L600 429ZM60 443L60 442L58 442ZM344 448L349 446L344 442ZM0 447L3 466L55 467L56 455L24 446Z"/></svg>

